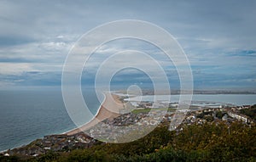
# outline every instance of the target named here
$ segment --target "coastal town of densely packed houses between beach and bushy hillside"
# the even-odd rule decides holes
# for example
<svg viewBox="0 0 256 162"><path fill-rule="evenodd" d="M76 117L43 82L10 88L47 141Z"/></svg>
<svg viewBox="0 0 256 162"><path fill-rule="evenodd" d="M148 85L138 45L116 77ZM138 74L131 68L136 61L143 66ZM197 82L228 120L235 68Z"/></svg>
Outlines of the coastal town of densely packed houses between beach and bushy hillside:
<svg viewBox="0 0 256 162"><path fill-rule="evenodd" d="M123 103L124 98L119 97ZM131 105L131 103L129 103ZM242 110L255 109L255 105L219 105L218 107L201 107L190 106L190 109L180 111L178 103L166 102L139 102L133 105L131 112L122 113L113 119L105 119L90 127L85 131L79 131L72 135L60 134L44 136L43 139L37 139L26 146L20 148L9 149L2 153L2 156L23 155L38 156L46 154L49 151L68 152L77 148L90 148L96 144L105 144L107 142L119 142L125 135L131 135L131 131L140 131L148 126L170 125L169 131L183 131L183 126L202 125L204 123L212 123L216 125L219 122L230 123L241 120L244 125L252 125L255 122L250 116L243 115ZM154 105L154 107L152 107ZM157 107L155 105L158 105ZM172 125L175 115L180 114L183 118L180 125ZM174 126L174 127L172 127ZM120 129L125 127L125 129ZM166 130L167 131L167 130ZM121 135L121 136L120 136ZM102 142L101 142L102 141Z"/></svg>

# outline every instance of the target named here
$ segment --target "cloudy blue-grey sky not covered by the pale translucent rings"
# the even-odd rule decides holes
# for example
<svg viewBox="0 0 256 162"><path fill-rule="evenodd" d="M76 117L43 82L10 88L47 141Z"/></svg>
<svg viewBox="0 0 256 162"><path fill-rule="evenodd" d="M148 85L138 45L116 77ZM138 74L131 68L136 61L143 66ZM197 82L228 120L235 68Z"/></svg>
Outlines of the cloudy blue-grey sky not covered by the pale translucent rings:
<svg viewBox="0 0 256 162"><path fill-rule="evenodd" d="M195 89L256 90L256 1L0 1L0 89L61 87L63 64L87 31L114 20L143 20L165 29L183 47ZM127 48L156 53L144 42L122 40L97 53ZM84 70L94 81L104 57L97 54ZM156 56L173 88L177 71ZM138 62L151 67L142 59ZM114 67L113 67L114 68ZM93 72L92 72L93 73ZM132 80L130 81L129 80ZM146 78L146 79L145 79ZM116 83L148 81L141 71L120 71ZM150 81L149 81L150 82Z"/></svg>

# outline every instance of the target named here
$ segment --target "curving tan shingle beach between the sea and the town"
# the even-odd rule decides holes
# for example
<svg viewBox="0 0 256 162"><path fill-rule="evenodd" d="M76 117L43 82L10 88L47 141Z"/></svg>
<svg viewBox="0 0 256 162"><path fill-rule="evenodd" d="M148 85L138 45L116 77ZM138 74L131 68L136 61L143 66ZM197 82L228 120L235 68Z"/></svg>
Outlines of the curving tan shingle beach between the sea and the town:
<svg viewBox="0 0 256 162"><path fill-rule="evenodd" d="M86 131L90 129L92 126L96 126L99 122L106 119L113 119L118 117L119 110L124 109L123 103L119 100L119 96L113 94L111 92L103 92L104 100L100 109L98 109L95 117L89 122L85 123L83 126L79 128L75 128L71 131L64 132L62 134L66 134L67 136L72 136L81 131Z"/></svg>

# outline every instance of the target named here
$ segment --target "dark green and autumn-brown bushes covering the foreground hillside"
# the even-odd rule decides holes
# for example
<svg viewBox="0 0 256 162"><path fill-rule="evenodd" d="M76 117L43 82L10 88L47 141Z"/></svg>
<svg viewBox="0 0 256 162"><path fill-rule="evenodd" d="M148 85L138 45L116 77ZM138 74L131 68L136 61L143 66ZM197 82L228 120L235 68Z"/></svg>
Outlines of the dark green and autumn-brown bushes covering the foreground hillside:
<svg viewBox="0 0 256 162"><path fill-rule="evenodd" d="M158 126L134 142L101 143L70 153L49 152L26 161L256 161L256 126L241 122L183 126L167 131ZM0 157L0 161L20 161ZM22 160L21 160L22 161Z"/></svg>

